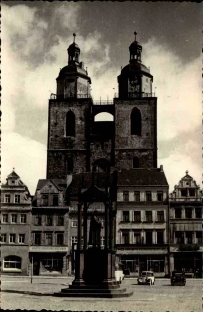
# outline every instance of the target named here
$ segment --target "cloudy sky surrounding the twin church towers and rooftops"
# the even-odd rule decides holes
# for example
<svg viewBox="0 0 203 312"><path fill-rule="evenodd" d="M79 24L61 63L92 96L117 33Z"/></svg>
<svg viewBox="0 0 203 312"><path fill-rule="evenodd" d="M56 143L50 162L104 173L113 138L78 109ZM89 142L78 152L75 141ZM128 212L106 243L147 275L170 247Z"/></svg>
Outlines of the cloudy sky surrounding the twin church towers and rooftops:
<svg viewBox="0 0 203 312"><path fill-rule="evenodd" d="M1 2L1 181L15 167L31 194L46 177L48 99L72 34L94 100L113 99L130 43L142 43L158 97L158 165L170 191L202 178L202 3Z"/></svg>

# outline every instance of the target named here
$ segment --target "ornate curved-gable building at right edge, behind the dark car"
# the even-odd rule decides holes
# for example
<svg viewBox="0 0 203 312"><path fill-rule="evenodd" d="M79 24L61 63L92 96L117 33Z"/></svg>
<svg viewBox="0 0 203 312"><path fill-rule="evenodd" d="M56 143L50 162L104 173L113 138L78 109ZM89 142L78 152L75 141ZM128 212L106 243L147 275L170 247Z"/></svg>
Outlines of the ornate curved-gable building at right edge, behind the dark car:
<svg viewBox="0 0 203 312"><path fill-rule="evenodd" d="M185 176L170 194L170 271L202 277L203 193L192 176Z"/></svg>

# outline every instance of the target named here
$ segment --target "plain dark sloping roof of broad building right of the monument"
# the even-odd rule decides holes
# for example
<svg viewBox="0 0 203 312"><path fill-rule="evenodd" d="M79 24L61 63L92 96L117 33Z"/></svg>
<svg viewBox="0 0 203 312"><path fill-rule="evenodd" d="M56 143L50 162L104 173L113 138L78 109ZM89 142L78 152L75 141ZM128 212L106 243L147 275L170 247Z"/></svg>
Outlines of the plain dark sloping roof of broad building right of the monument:
<svg viewBox="0 0 203 312"><path fill-rule="evenodd" d="M168 186L168 182L160 168L133 168L118 172L118 185Z"/></svg>

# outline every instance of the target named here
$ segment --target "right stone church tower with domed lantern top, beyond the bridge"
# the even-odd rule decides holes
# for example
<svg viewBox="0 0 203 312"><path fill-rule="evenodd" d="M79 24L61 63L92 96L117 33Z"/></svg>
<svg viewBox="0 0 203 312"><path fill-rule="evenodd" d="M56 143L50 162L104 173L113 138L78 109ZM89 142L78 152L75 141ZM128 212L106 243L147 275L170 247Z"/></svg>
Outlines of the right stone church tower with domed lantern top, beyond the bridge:
<svg viewBox="0 0 203 312"><path fill-rule="evenodd" d="M157 168L157 98L152 93L153 76L142 64L142 46L129 46L129 64L118 76L115 98L115 166Z"/></svg>

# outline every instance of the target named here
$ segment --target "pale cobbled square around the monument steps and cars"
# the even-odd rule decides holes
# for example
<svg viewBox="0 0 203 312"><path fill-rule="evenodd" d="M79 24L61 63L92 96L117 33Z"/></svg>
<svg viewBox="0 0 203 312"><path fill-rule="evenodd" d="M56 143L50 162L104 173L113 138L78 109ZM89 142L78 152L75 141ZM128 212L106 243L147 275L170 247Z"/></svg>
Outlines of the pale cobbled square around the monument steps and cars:
<svg viewBox="0 0 203 312"><path fill-rule="evenodd" d="M134 312L202 312L202 280L187 279L186 286L170 286L169 279L157 279L155 285L138 286L136 279L125 279L122 284L132 289L128 298L60 298L51 295L31 295L19 292L52 293L67 286L69 279L2 278L0 308L27 310L72 311L134 311ZM6 292L6 290L13 292Z"/></svg>

